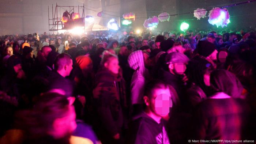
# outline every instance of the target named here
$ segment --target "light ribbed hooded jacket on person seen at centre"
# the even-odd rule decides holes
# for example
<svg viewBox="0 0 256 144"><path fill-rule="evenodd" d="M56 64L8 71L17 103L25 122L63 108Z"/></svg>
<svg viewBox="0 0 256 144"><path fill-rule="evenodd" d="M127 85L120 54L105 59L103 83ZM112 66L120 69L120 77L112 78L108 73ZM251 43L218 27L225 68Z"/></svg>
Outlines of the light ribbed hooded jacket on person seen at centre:
<svg viewBox="0 0 256 144"><path fill-rule="evenodd" d="M131 80L131 103L132 105L142 104L144 86L149 77L148 70L144 65L142 50L131 53L128 57L128 64L130 68L135 70Z"/></svg>

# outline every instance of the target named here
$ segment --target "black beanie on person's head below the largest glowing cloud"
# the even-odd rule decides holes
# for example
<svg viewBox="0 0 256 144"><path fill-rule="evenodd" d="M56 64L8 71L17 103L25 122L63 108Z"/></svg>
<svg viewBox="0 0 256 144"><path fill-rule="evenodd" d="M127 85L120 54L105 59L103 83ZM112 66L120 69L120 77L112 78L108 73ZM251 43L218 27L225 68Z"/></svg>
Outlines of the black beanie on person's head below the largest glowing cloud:
<svg viewBox="0 0 256 144"><path fill-rule="evenodd" d="M201 56L208 57L215 50L215 45L208 41L199 41L197 45L198 53Z"/></svg>

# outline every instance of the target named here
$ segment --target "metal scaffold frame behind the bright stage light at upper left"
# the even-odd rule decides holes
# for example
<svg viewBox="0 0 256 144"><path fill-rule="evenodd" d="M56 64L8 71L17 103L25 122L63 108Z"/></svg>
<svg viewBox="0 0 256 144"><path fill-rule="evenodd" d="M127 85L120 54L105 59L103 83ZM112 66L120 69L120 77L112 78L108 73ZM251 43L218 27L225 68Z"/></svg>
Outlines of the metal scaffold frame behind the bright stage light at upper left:
<svg viewBox="0 0 256 144"><path fill-rule="evenodd" d="M53 15L53 4L52 4L52 18L50 18L50 10L48 6L48 23L49 23L49 34L50 31L52 31L52 34L57 31L57 34L59 34L59 30L63 30L64 23L61 21L62 14L67 10L66 8L69 8L68 12L75 12L75 9L78 10L78 13L80 14L80 10L82 9L82 16L80 18L84 18L84 4L83 6L60 6L56 3L54 15ZM61 9L63 9L63 12L61 12ZM59 16L58 16L59 15ZM85 26L84 26L85 30Z"/></svg>

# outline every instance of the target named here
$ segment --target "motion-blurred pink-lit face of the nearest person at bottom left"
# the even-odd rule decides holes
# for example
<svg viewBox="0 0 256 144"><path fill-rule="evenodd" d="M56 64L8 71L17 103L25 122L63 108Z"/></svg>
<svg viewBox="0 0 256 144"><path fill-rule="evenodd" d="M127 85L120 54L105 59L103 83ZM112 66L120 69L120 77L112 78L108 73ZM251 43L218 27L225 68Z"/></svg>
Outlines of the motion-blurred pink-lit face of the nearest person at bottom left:
<svg viewBox="0 0 256 144"><path fill-rule="evenodd" d="M53 135L56 136L56 138L70 136L76 129L76 113L74 106L68 107L67 114L62 118L57 118L53 122Z"/></svg>

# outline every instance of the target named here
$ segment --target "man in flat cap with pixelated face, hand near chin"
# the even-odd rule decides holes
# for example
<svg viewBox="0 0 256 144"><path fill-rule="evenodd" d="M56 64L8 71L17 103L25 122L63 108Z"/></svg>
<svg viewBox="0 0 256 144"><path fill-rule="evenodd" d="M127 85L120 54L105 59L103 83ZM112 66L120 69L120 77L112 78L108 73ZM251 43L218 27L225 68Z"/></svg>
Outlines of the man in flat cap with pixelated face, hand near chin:
<svg viewBox="0 0 256 144"><path fill-rule="evenodd" d="M187 76L185 75L186 64L189 58L179 52L169 53L165 57L165 70L160 73L159 78L172 86L181 100L184 98Z"/></svg>

